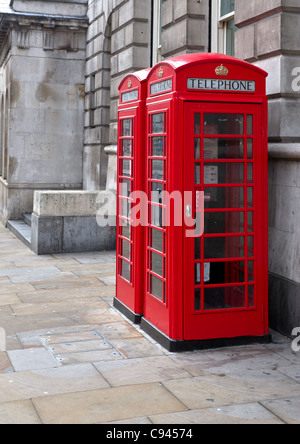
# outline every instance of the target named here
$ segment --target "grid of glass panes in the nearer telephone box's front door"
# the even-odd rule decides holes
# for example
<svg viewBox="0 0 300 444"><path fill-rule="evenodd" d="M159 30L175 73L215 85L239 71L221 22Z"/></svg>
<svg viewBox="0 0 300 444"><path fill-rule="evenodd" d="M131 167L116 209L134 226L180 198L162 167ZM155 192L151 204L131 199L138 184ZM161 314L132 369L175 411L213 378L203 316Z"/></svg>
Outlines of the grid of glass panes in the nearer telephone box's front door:
<svg viewBox="0 0 300 444"><path fill-rule="evenodd" d="M192 142L195 192L205 194L205 231L195 239L195 311L252 309L253 116L195 113Z"/></svg>

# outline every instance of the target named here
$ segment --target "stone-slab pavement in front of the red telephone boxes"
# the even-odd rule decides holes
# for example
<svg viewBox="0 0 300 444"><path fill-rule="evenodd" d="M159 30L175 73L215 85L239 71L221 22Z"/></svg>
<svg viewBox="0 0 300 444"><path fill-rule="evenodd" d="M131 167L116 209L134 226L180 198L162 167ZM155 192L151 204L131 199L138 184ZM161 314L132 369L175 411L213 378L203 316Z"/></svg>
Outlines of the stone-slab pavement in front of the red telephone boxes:
<svg viewBox="0 0 300 444"><path fill-rule="evenodd" d="M114 256L35 256L0 226L0 423L300 423L290 340L169 353L112 307Z"/></svg>

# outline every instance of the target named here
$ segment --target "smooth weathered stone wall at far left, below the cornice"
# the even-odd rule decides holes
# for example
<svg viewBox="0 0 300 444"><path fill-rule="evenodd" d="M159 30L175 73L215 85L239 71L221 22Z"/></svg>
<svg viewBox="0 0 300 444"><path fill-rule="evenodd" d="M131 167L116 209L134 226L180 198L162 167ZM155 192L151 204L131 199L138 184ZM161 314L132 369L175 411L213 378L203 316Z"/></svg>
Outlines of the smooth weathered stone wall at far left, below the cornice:
<svg viewBox="0 0 300 444"><path fill-rule="evenodd" d="M2 56L1 219L36 189L82 188L87 21L9 16ZM5 57L4 57L5 56Z"/></svg>

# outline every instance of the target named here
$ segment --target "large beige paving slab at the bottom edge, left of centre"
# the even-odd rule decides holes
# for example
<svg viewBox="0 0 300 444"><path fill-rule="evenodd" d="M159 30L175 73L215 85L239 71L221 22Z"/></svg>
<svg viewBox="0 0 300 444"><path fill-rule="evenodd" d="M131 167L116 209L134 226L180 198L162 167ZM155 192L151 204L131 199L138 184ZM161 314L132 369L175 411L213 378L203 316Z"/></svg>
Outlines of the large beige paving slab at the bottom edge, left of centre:
<svg viewBox="0 0 300 444"><path fill-rule="evenodd" d="M34 398L44 424L100 424L187 410L159 383Z"/></svg>

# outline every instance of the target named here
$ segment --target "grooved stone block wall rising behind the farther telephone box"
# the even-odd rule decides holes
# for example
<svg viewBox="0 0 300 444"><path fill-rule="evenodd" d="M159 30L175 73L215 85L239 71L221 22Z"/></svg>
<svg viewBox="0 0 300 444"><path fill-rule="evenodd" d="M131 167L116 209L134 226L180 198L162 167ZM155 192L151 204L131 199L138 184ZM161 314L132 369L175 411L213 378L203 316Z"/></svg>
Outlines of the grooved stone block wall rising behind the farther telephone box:
<svg viewBox="0 0 300 444"><path fill-rule="evenodd" d="M83 186L104 189L106 146L117 144L118 86L150 65L151 2L90 0L85 80Z"/></svg>

